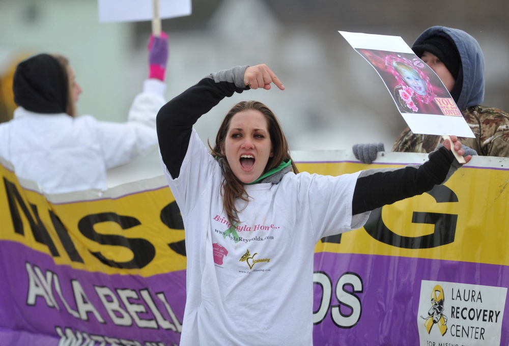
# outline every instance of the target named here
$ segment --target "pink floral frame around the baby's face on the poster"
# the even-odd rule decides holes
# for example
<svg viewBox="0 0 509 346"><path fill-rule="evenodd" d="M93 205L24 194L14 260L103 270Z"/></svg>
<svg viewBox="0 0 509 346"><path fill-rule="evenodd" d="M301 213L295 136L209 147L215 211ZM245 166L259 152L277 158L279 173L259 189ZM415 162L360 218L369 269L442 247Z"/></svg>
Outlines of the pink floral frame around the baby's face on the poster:
<svg viewBox="0 0 509 346"><path fill-rule="evenodd" d="M398 81L399 85L397 85L394 88L394 96L399 96L399 101L403 108L407 108L413 112L417 112L418 108L416 102L414 102L414 99L417 99L420 102L426 104L430 103L435 99L436 95L433 92L433 86L430 82L430 78L424 72L421 71L421 68L424 68L425 66L419 59L417 59L417 57L410 61L409 59L401 56L400 54L397 54L397 56L386 55L384 62L385 66L387 67L387 70L390 71L394 78L396 78ZM422 81L426 83L428 90L426 95L419 95L415 93L413 89L410 88L410 86L408 86L408 84L403 80L401 74L394 69L392 65L394 62L400 62L406 65L407 67L413 69L419 74Z"/></svg>

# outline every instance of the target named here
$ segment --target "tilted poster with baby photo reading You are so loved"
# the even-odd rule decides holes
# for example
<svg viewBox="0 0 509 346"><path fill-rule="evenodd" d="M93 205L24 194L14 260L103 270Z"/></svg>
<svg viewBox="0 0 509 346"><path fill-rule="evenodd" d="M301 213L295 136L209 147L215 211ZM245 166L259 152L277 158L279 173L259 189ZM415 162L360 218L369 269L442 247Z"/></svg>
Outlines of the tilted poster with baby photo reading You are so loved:
<svg viewBox="0 0 509 346"><path fill-rule="evenodd" d="M413 133L474 137L440 78L401 37L340 34L378 72Z"/></svg>

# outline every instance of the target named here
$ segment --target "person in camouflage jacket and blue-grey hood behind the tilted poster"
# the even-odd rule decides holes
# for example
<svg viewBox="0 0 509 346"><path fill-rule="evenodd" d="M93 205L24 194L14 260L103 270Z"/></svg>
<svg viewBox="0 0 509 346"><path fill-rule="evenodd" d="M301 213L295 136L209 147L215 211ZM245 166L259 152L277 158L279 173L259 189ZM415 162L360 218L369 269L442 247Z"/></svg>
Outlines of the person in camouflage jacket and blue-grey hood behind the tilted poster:
<svg viewBox="0 0 509 346"><path fill-rule="evenodd" d="M415 40L412 50L444 82L474 133L475 138L459 137L462 144L478 155L509 157L509 114L480 105L484 100L484 55L477 41L464 31L432 26ZM444 67L449 72L445 77L440 70ZM392 151L430 153L439 141L441 136L414 134L407 127Z"/></svg>

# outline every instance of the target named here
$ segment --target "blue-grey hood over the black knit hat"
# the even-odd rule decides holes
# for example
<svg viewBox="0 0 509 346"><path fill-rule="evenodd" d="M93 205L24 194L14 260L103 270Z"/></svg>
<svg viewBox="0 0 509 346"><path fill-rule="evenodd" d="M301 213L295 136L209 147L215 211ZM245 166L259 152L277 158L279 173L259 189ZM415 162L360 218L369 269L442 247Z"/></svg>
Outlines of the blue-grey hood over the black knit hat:
<svg viewBox="0 0 509 346"><path fill-rule="evenodd" d="M413 46L432 36L442 36L454 42L461 57L463 85L456 104L465 109L484 100L484 55L477 41L462 30L432 26L417 37Z"/></svg>

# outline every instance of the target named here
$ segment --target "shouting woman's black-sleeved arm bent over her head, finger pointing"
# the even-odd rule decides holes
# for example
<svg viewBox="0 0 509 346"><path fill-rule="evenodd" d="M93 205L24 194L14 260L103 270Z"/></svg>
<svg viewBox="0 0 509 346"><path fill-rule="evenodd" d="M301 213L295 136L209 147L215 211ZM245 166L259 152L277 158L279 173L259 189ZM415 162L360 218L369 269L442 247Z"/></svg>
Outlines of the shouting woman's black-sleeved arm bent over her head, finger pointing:
<svg viewBox="0 0 509 346"><path fill-rule="evenodd" d="M266 65L237 66L206 76L166 103L157 114L157 136L162 160L172 178L179 176L192 126L203 114L236 92L258 88L269 90L271 82L279 89L285 89Z"/></svg>

